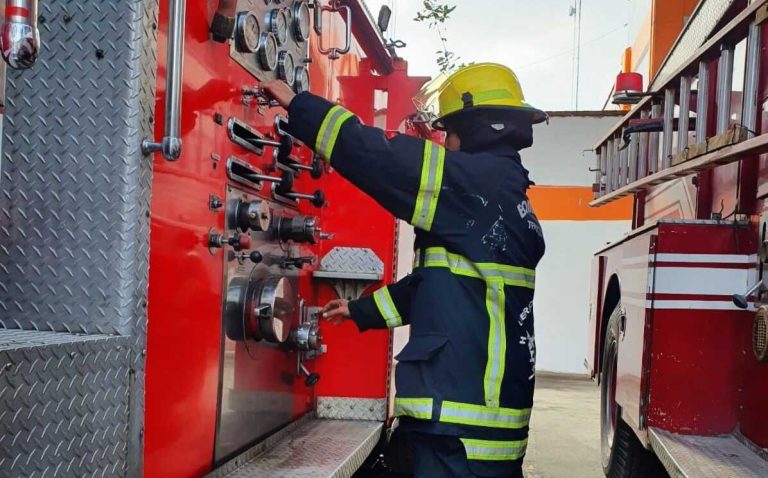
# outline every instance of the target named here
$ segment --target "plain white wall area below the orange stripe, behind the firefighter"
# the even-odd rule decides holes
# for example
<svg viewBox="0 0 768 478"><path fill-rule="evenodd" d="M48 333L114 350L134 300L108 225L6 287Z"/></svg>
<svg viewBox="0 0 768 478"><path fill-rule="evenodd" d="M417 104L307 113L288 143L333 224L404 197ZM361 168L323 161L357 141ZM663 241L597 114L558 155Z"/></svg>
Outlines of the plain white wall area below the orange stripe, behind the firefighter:
<svg viewBox="0 0 768 478"><path fill-rule="evenodd" d="M536 269L536 369L586 373L590 268L595 251L629 231L630 221L544 221L547 253Z"/></svg>

